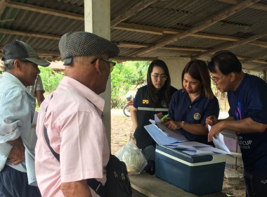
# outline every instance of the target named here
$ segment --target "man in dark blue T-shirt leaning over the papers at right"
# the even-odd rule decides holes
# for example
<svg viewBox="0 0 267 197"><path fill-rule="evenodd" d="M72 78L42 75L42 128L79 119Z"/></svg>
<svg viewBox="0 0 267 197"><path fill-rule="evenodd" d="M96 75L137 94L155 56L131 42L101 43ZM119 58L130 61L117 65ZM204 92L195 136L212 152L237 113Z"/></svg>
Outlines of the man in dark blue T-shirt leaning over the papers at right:
<svg viewBox="0 0 267 197"><path fill-rule="evenodd" d="M237 134L244 163L246 196L267 193L267 84L242 72L242 65L230 51L219 51L208 64L211 80L221 92L228 92L229 117L218 121L210 116L208 141L224 129Z"/></svg>

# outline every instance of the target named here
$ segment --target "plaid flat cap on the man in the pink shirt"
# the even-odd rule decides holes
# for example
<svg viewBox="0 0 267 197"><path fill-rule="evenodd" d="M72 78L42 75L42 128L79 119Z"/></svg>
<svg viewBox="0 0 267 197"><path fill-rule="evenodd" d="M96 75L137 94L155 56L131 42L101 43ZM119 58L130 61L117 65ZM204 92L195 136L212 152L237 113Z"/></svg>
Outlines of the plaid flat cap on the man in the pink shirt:
<svg viewBox="0 0 267 197"><path fill-rule="evenodd" d="M65 60L64 65L70 65L75 56L108 54L109 58L113 58L119 54L116 44L90 32L67 32L61 37L58 47L61 59Z"/></svg>

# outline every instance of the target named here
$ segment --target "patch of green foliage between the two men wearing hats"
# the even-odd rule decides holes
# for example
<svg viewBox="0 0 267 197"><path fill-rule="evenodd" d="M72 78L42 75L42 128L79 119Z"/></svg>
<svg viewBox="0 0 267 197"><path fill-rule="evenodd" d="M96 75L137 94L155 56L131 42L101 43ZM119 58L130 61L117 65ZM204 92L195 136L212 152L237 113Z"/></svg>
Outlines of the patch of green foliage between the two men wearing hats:
<svg viewBox="0 0 267 197"><path fill-rule="evenodd" d="M58 84L60 80L62 80L64 75L55 72L53 69L49 67L40 66L39 69L41 70L40 76L41 80L43 81L44 90L46 91L46 94L50 94L58 87Z"/></svg>

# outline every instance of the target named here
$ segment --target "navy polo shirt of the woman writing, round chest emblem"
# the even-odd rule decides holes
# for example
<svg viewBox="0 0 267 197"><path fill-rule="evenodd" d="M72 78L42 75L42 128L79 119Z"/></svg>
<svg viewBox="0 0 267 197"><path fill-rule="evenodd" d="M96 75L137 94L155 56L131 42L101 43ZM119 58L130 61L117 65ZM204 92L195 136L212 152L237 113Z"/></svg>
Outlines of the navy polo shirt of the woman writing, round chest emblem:
<svg viewBox="0 0 267 197"><path fill-rule="evenodd" d="M206 125L205 120L209 115L219 117L219 102L214 96L208 99L204 94L200 94L191 103L188 93L180 89L174 93L169 103L169 117L175 121L185 121L190 124ZM195 135L186 132L184 129L179 129L189 141L198 141L207 144L207 135Z"/></svg>

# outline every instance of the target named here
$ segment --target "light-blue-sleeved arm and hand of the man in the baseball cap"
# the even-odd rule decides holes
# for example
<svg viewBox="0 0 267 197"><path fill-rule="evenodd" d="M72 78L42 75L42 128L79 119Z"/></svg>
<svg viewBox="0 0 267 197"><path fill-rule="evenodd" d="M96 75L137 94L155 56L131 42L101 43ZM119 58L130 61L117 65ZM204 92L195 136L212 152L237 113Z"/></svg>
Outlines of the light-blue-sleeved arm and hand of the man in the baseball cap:
<svg viewBox="0 0 267 197"><path fill-rule="evenodd" d="M25 160L25 146L20 138L20 132L24 132L22 129L30 129L30 107L25 95L18 94L2 99L0 115L1 155L8 155L8 161L12 165L18 165ZM25 128L21 125L25 125ZM4 146L4 143L11 146Z"/></svg>

